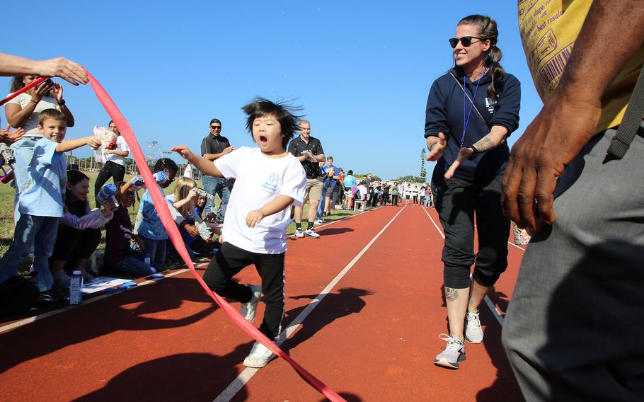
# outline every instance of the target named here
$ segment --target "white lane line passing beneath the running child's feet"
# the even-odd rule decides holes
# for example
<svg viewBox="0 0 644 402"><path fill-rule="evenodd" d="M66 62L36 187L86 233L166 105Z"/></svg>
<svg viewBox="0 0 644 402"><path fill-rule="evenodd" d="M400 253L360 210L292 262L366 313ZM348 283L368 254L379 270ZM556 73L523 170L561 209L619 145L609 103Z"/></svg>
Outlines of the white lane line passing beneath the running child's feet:
<svg viewBox="0 0 644 402"><path fill-rule="evenodd" d="M287 338L289 338L292 335L292 333L294 333L297 330L297 328L299 328L299 326L304 321L304 319L306 319L306 317L308 317L309 314L311 314L311 311L313 311L318 306L318 304L320 304L322 299L326 297L326 295L331 291L331 289L333 289L333 287L335 287L335 285L337 285L338 282L340 282L340 280L347 274L347 272L349 272L349 270L353 268L355 263L357 263L357 261L360 260L362 255L364 255L364 253L366 253L367 250L369 250L369 248L373 245L373 243L389 227L391 222L393 222L393 219L396 219L398 215L400 215L401 212L403 212L403 209L405 208L406 207L402 207L401 210L398 211L398 213L394 215L393 218L391 218L391 221L389 221L389 223L387 223L381 229L381 231L379 231L378 234L376 234L376 236L374 236L374 238L371 241L369 241L369 243L367 243L367 246L364 246L364 248L362 248L360 253L357 253L357 255L351 260L351 262L348 263L347 266L345 266L345 268L341 270L340 273L338 273L338 275L336 275L333 278L333 280L329 282L328 285L326 285L326 287L322 290L322 292L320 292L320 294L318 294L315 299L311 300L311 302L306 306L306 308L303 311L301 311L301 313L297 317L295 317L292 323L289 324L288 328L286 328L286 330L280 333L280 335L277 337L277 342L276 342L277 346L282 345L282 343L284 343L284 340L287 340ZM352 215L352 216L355 216L355 215ZM286 336L284 336L284 332L286 333L285 334ZM251 378L253 377L253 375L255 375L256 372L258 372L258 369L251 369L251 368L244 369L243 372L241 372L241 374L239 374L237 378L234 379L229 384L229 386L226 386L226 389L222 391L222 394L219 394L219 396L217 396L217 398L215 398L213 402L229 402L243 388L243 386L245 386L246 383L251 380Z"/></svg>

